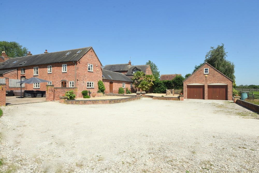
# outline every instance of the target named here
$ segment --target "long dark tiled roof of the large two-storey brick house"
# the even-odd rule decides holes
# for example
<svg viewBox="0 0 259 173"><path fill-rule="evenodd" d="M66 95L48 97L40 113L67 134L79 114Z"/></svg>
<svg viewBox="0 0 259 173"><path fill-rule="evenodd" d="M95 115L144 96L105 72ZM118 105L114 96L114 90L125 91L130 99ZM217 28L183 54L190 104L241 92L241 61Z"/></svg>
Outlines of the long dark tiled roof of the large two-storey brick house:
<svg viewBox="0 0 259 173"><path fill-rule="evenodd" d="M10 58L5 62L2 62L2 64L4 65L0 63L0 69L21 67L21 66L28 66L28 65L40 65L40 64L58 63L58 62L78 61L91 48L92 47L85 47L80 49L64 50L59 52L51 52L51 53L43 53L43 54L24 56L24 57L18 57L18 58ZM79 50L82 50L82 51L77 54ZM66 55L68 52L70 53ZM15 61L17 62L12 64ZM26 62L26 63L21 64L23 62Z"/></svg>

